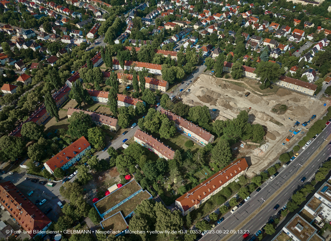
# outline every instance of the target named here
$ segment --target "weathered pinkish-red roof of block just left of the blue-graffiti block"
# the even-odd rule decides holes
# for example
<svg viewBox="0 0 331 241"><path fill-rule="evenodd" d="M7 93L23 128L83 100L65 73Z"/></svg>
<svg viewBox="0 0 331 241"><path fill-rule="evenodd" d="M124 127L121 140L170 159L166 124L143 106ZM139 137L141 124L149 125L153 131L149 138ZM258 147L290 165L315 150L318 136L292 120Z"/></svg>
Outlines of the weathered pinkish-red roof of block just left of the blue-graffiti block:
<svg viewBox="0 0 331 241"><path fill-rule="evenodd" d="M163 144L163 142L161 143L156 138L152 137L152 135L148 135L147 133L137 129L134 133L134 137L144 141L145 143L148 143L150 146L152 146L158 152L162 153L162 155L166 156L168 159L173 159L175 151Z"/></svg>

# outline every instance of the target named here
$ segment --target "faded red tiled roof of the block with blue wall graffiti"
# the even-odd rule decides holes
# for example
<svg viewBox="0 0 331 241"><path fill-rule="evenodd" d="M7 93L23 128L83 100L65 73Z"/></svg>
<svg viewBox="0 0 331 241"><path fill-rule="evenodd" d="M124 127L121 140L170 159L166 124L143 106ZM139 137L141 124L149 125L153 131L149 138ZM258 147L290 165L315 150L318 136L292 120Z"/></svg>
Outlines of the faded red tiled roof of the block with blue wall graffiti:
<svg viewBox="0 0 331 241"><path fill-rule="evenodd" d="M205 141L209 141L211 139L211 137L213 136L208 131L205 131L198 125L192 124L191 122L185 120L183 117L180 117L170 111L167 111L167 110L161 108L161 113L166 114L166 116L170 120L173 120L177 125L182 126L185 129L189 129L192 133L196 134L197 136L199 136L201 139L203 139Z"/></svg>

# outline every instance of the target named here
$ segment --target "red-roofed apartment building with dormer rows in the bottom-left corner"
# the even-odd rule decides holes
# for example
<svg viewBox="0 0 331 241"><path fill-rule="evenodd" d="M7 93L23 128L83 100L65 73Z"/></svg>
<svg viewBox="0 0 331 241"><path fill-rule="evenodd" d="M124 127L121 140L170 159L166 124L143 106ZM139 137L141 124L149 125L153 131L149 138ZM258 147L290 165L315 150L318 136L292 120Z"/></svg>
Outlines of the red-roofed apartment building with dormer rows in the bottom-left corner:
<svg viewBox="0 0 331 241"><path fill-rule="evenodd" d="M52 221L11 181L0 183L1 209L6 210L11 218L31 238L40 235L44 237Z"/></svg>

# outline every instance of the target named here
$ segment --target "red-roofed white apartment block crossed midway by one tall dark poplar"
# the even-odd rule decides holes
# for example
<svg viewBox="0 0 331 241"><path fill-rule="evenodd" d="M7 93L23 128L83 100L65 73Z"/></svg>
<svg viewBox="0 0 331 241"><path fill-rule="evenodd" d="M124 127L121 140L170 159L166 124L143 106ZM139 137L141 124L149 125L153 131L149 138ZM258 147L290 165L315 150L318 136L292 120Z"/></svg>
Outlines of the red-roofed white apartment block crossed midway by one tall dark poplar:
<svg viewBox="0 0 331 241"><path fill-rule="evenodd" d="M87 90L88 94L92 97L93 101L107 103L108 101L108 94L107 91L98 91L98 90ZM134 108L138 102L142 102L146 105L145 101L138 100L129 96L124 96L121 94L117 94L117 105L118 106L130 106L132 105Z"/></svg>

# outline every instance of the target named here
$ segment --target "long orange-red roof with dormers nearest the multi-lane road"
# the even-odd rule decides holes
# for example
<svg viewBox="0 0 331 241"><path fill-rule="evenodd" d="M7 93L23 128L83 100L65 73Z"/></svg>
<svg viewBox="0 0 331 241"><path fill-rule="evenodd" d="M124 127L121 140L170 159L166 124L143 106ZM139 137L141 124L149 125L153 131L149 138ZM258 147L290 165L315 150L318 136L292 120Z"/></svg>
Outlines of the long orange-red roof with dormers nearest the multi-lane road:
<svg viewBox="0 0 331 241"><path fill-rule="evenodd" d="M218 187L224 185L224 183L245 171L246 168L248 168L246 159L239 158L215 173L206 181L201 182L199 185L177 198L176 201L180 202L185 212L195 204L200 203L202 199L210 195Z"/></svg>

